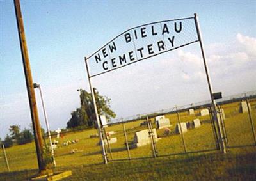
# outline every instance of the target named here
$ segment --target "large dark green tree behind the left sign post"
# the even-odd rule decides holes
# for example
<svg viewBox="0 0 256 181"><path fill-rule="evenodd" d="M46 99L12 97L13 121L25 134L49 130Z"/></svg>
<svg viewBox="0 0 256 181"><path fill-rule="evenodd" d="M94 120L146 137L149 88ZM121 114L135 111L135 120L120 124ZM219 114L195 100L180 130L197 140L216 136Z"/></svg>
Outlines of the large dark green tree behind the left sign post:
<svg viewBox="0 0 256 181"><path fill-rule="evenodd" d="M77 91L80 92L80 107L77 108L76 111L72 111L71 118L67 122L67 128L83 125L91 127L95 125L96 122L92 94L83 89ZM100 95L99 92L95 90L95 100L99 114L106 114L107 119L116 117L116 114L110 108L110 98Z"/></svg>

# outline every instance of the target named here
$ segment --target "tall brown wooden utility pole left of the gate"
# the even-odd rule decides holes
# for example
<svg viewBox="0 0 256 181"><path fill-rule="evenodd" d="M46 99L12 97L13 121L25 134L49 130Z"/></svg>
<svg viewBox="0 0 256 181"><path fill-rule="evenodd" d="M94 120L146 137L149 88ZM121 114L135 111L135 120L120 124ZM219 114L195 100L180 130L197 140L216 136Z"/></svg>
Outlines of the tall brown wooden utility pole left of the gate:
<svg viewBox="0 0 256 181"><path fill-rule="evenodd" d="M17 19L17 26L19 30L20 49L22 53L22 61L23 61L25 78L26 78L26 86L28 91L29 107L30 107L32 125L33 125L33 130L35 135L38 168L40 173L42 173L42 171L45 170L45 164L43 163L43 139L42 139L41 127L40 127L40 122L38 117L38 111L36 107L36 97L35 97L35 90L33 88L33 79L32 79L31 69L29 65L28 47L26 43L24 25L23 25L21 10L20 10L20 1L14 0L14 5L15 5L15 14Z"/></svg>

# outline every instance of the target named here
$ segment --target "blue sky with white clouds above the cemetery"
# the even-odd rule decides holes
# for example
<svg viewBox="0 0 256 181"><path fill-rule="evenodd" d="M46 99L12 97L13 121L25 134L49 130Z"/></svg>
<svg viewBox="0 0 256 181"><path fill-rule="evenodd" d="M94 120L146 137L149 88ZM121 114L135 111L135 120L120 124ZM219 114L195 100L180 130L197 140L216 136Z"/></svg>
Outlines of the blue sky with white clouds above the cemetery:
<svg viewBox="0 0 256 181"><path fill-rule="evenodd" d="M88 90L84 56L141 24L198 13L214 91L256 90L255 1L21 1L33 81L51 129L66 126ZM1 1L1 138L31 123L13 1ZM93 78L118 117L209 99L198 44ZM254 76L254 77L253 77ZM36 90L36 95L38 91ZM40 120L42 107L37 97Z"/></svg>

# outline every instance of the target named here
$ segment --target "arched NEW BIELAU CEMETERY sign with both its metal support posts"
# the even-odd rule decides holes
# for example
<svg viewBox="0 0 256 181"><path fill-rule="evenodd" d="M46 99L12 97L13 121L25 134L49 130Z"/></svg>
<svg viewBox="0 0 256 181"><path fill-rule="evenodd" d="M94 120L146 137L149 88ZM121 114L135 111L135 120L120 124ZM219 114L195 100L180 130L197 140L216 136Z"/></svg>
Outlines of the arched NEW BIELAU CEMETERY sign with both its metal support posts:
<svg viewBox="0 0 256 181"><path fill-rule="evenodd" d="M216 104L212 95L211 80L207 70L207 63L205 61L200 27L195 14L194 17L164 20L128 29L124 33L113 38L110 42L106 43L106 45L101 47L88 58L84 58L90 90L92 92L97 124L100 125L100 119L91 83L92 77L195 42L200 43L205 74L214 109L214 120L216 120ZM218 122L218 119L216 121ZM220 122L218 122L218 126L220 127ZM102 146L102 155L104 162L107 163L108 157L104 148L104 139L101 127L99 126L98 129ZM224 153L225 145L223 143L223 136L220 129L218 129L218 137L220 138L221 150Z"/></svg>

